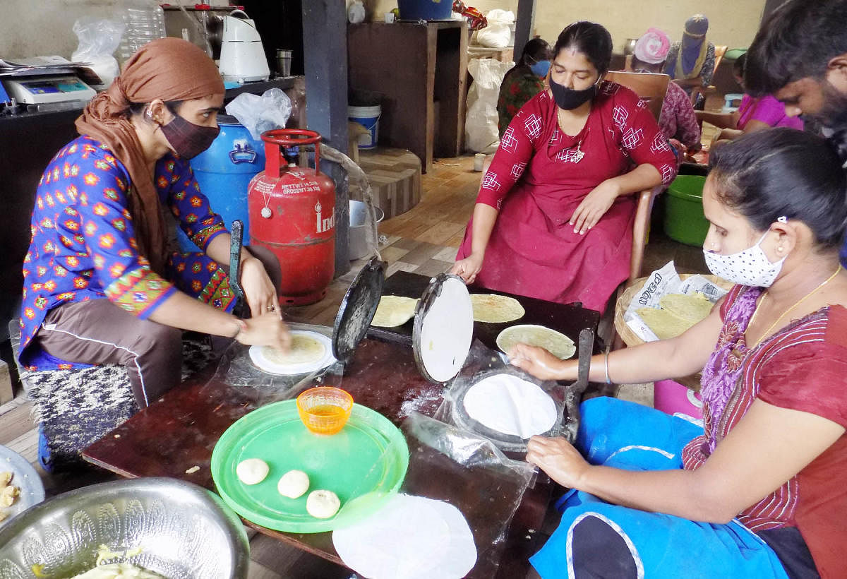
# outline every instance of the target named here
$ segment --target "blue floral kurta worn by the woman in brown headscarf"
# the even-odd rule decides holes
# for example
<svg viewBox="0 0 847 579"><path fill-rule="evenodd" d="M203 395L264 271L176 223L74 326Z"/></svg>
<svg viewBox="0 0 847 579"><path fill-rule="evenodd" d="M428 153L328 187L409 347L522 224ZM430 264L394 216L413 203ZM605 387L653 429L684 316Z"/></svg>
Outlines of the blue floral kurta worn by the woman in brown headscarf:
<svg viewBox="0 0 847 579"><path fill-rule="evenodd" d="M153 177L159 202L198 248L226 232L188 161L168 153L158 160ZM205 253L173 253L164 277L151 270L138 253L129 187L124 165L88 136L69 142L47 165L23 267L19 360L30 370L87 366L57 359L32 342L47 312L63 303L108 299L146 319L179 289L218 309L235 306L229 277Z"/></svg>

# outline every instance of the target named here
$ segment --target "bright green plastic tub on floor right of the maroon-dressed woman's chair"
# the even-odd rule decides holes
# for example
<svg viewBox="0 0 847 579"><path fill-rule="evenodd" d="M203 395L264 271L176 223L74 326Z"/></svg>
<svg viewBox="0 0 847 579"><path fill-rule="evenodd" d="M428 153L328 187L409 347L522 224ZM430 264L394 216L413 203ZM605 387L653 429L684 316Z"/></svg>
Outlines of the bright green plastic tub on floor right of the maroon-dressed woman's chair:
<svg viewBox="0 0 847 579"><path fill-rule="evenodd" d="M678 175L667 188L664 230L667 237L700 247L706 241L709 222L703 215L703 184L706 177Z"/></svg>

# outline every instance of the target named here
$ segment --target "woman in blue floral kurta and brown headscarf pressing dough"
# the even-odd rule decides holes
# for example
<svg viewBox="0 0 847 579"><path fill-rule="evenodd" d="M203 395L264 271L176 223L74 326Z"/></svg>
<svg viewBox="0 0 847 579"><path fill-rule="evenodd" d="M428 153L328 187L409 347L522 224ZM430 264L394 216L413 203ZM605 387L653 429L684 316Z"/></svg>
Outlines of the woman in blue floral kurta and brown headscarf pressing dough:
<svg viewBox="0 0 847 579"><path fill-rule="evenodd" d="M125 365L141 407L179 381L180 329L285 349L274 283L242 253L250 320L230 314L230 235L188 159L217 135L224 86L175 38L130 59L44 171L24 260L20 362L30 370ZM174 253L164 211L204 253ZM255 253L255 252L254 252ZM262 256L265 258L265 256ZM278 265L277 265L278 268Z"/></svg>

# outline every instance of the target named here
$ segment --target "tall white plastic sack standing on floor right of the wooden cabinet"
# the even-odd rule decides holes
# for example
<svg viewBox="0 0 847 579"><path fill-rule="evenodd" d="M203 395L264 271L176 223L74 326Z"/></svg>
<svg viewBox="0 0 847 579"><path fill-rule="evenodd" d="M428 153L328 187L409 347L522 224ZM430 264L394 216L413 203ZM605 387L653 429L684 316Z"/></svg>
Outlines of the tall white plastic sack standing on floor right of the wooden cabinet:
<svg viewBox="0 0 847 579"><path fill-rule="evenodd" d="M473 83L468 90L468 114L465 118L465 147L476 153L492 153L500 142L497 131L497 97L503 77L514 63L494 58L472 58L468 72Z"/></svg>

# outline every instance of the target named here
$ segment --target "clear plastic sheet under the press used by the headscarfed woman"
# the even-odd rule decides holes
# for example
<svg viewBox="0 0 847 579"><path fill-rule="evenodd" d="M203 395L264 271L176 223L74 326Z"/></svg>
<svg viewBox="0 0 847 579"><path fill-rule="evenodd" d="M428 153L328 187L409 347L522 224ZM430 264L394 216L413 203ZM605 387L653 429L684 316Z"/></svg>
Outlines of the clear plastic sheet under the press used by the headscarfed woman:
<svg viewBox="0 0 847 579"><path fill-rule="evenodd" d="M329 338L332 337L332 328L327 326L296 323L291 323L289 326L292 330L314 331ZM313 383L315 386L338 384L344 370L340 362L335 362L333 365L307 374L269 374L259 370L253 364L249 349L249 346L233 342L224 351L218 364L218 371L212 380L222 381L231 387L252 388L262 399L262 404L294 398L304 387Z"/></svg>

